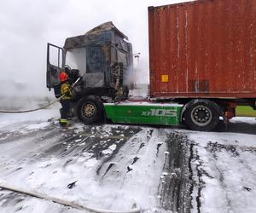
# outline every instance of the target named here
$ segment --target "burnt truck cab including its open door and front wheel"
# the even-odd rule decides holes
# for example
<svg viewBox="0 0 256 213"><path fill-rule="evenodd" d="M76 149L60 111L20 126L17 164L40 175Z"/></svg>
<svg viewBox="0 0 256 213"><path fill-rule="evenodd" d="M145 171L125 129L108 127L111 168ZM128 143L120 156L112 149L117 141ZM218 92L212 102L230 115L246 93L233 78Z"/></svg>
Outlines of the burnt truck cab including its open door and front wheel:
<svg viewBox="0 0 256 213"><path fill-rule="evenodd" d="M102 102L128 95L123 77L131 67L131 43L112 22L96 26L84 35L68 37L63 48L47 45L47 88L54 89L55 97L59 97L61 71L67 72L70 83L81 77L74 87L73 102L86 124L100 121Z"/></svg>

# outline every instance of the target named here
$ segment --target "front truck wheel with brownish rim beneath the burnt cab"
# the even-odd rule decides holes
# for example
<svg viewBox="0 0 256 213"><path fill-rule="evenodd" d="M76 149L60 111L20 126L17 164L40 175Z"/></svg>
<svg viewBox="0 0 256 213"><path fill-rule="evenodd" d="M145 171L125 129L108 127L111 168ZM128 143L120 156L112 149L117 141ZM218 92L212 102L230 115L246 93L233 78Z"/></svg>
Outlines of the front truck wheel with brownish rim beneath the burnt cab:
<svg viewBox="0 0 256 213"><path fill-rule="evenodd" d="M102 122L103 105L100 98L90 95L79 101L77 107L79 120L84 124L97 124Z"/></svg>

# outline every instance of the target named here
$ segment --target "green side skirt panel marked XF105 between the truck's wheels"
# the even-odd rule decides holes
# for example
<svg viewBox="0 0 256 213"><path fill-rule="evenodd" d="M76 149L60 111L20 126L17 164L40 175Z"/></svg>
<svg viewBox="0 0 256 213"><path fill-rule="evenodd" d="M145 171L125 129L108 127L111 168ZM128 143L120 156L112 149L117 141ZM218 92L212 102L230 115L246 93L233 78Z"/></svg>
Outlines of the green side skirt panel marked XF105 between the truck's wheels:
<svg viewBox="0 0 256 213"><path fill-rule="evenodd" d="M180 124L182 105L154 103L104 104L108 119L113 123L125 124Z"/></svg>

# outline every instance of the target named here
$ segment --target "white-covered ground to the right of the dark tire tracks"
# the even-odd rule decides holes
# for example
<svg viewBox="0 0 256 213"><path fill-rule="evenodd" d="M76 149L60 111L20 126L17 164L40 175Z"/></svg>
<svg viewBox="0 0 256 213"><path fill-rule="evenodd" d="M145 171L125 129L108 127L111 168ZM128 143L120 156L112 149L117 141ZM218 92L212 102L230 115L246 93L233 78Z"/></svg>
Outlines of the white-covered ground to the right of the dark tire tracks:
<svg viewBox="0 0 256 213"><path fill-rule="evenodd" d="M247 119L236 118L236 122ZM249 119L249 123L252 118ZM254 124L255 127L255 124ZM256 130L256 129L255 129ZM204 187L202 212L255 212L256 135L187 132L196 142ZM198 162L194 162L198 164Z"/></svg>

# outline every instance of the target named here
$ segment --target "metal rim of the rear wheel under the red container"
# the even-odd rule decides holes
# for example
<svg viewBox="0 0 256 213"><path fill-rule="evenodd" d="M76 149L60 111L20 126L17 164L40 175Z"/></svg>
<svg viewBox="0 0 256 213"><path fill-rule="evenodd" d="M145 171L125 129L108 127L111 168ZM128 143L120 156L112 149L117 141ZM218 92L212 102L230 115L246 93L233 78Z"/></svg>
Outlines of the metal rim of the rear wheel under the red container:
<svg viewBox="0 0 256 213"><path fill-rule="evenodd" d="M196 106L191 111L191 119L198 126L207 126L212 121L212 111L206 106Z"/></svg>

